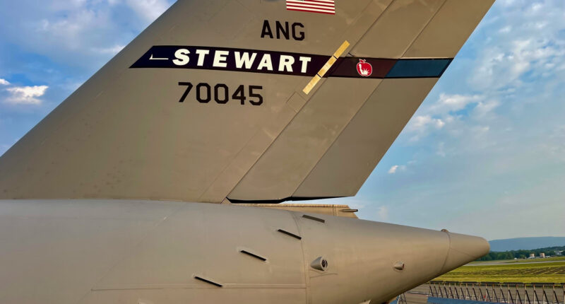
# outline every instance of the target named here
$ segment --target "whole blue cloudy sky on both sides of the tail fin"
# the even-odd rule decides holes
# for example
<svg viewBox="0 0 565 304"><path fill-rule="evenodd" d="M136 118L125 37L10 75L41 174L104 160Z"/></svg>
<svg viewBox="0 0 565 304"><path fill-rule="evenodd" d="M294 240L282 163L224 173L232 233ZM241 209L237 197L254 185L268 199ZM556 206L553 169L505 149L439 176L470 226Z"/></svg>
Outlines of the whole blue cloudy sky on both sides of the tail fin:
<svg viewBox="0 0 565 304"><path fill-rule="evenodd" d="M0 0L0 154L174 1ZM359 217L565 236L565 1L497 0L356 197Z"/></svg>

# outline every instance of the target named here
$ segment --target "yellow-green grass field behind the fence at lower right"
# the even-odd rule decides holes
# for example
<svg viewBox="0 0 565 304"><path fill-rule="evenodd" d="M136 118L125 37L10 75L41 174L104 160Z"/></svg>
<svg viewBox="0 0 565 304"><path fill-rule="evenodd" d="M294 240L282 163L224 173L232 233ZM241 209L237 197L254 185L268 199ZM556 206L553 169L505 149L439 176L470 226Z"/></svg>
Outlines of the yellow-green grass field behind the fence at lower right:
<svg viewBox="0 0 565 304"><path fill-rule="evenodd" d="M522 261L527 262L527 261ZM540 260L532 261L540 262ZM565 283L565 261L554 263L463 266L436 280L477 282Z"/></svg>

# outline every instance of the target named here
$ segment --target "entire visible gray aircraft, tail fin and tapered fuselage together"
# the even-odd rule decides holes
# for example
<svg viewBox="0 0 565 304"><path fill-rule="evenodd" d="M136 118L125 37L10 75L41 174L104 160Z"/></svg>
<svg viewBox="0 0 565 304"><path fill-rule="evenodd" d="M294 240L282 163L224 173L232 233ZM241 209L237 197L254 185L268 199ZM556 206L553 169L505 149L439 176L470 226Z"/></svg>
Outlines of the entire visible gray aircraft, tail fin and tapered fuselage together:
<svg viewBox="0 0 565 304"><path fill-rule="evenodd" d="M492 2L178 1L0 158L0 303L379 304L484 255L348 208L229 203L355 195Z"/></svg>

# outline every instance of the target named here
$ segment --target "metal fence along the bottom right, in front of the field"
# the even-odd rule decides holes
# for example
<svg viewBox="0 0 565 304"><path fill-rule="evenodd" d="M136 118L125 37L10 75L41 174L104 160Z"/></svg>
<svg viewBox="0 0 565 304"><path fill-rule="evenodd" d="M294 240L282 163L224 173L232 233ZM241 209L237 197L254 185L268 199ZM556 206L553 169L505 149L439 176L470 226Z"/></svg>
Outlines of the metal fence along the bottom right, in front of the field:
<svg viewBox="0 0 565 304"><path fill-rule="evenodd" d="M565 304L565 283L431 281L429 295L507 304Z"/></svg>

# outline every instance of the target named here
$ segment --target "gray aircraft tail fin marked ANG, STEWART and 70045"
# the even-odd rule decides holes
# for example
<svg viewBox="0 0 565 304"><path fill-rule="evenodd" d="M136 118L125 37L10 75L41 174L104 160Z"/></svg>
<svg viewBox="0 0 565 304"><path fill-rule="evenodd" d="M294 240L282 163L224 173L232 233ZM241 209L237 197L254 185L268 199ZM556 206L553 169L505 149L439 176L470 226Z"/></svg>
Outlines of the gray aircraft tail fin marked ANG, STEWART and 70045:
<svg viewBox="0 0 565 304"><path fill-rule="evenodd" d="M355 195L494 0L177 1L0 158L0 199Z"/></svg>

